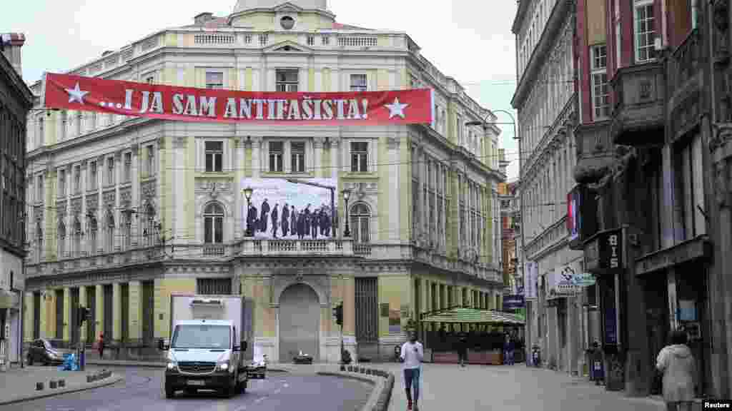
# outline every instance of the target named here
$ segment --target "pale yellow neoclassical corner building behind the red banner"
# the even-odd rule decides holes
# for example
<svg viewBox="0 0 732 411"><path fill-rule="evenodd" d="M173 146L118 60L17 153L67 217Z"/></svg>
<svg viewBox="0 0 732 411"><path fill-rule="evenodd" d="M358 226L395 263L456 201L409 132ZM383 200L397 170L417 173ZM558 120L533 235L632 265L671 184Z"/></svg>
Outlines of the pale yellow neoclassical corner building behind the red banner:
<svg viewBox="0 0 732 411"><path fill-rule="evenodd" d="M25 339L158 355L171 293L247 298L249 355L388 357L409 319L501 306L498 129L408 35L337 23L325 0L242 0L70 70L246 91L433 88L433 124L198 124L34 113L28 131ZM31 88L40 94L42 84ZM247 179L328 178L335 235L246 236ZM351 193L348 208L341 192ZM348 211L350 236L344 235ZM91 309L81 328L75 307Z"/></svg>

